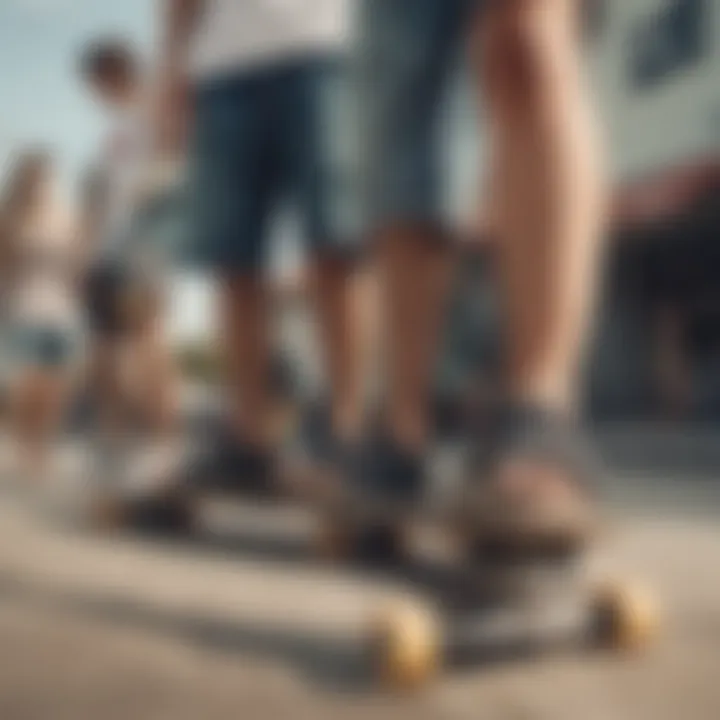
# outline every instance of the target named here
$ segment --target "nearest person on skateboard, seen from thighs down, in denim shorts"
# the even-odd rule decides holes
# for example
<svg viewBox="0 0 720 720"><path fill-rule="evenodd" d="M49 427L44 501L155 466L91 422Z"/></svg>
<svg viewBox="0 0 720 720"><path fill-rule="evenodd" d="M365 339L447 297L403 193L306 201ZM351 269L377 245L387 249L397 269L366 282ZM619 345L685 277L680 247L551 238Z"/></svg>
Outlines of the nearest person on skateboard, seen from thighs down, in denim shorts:
<svg viewBox="0 0 720 720"><path fill-rule="evenodd" d="M387 329L386 421L360 481L402 503L422 492L448 268L438 130L466 55L489 126L504 399L496 431L473 438L465 506L478 531L572 543L593 514L577 403L605 205L582 14L581 0L362 0L359 40L363 194Z"/></svg>

